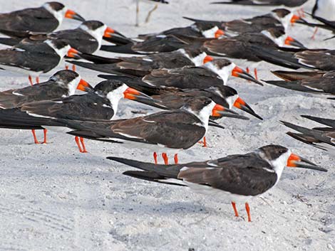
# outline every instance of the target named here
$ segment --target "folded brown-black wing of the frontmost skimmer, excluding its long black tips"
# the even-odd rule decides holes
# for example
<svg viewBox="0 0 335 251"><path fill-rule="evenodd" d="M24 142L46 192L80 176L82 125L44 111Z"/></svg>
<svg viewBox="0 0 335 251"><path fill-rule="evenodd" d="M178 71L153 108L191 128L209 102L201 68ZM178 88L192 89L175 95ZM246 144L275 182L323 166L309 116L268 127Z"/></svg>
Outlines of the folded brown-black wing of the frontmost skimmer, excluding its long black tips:
<svg viewBox="0 0 335 251"><path fill-rule="evenodd" d="M178 178L242 196L262 194L277 182L277 174L269 171L272 170L269 163L256 154L227 156L223 159L220 161L222 168L190 166L182 169Z"/></svg>

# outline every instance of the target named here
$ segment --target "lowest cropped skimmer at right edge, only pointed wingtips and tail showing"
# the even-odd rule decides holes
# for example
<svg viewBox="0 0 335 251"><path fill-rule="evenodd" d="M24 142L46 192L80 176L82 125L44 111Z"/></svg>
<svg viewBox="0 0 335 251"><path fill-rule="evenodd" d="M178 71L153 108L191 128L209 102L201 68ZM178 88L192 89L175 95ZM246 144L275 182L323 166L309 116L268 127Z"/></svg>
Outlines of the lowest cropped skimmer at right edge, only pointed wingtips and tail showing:
<svg viewBox="0 0 335 251"><path fill-rule="evenodd" d="M282 124L284 124L286 127L294 129L298 132L287 132L287 135L305 144L309 144L324 151L328 151L330 154L334 154L335 156L335 121L333 119L322 119L311 116L301 117L306 117L307 119L321 122L321 124L324 124L323 122L326 121L326 124L330 124L332 127L315 127L313 129L309 129L282 121Z"/></svg>

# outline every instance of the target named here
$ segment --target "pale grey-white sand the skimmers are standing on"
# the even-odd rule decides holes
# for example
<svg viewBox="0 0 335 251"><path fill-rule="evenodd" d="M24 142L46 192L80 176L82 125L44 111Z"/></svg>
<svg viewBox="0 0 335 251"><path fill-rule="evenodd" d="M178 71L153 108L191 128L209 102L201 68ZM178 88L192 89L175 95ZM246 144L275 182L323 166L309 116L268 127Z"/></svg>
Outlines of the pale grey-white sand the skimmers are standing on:
<svg viewBox="0 0 335 251"><path fill-rule="evenodd" d="M207 4L210 1L171 2L158 8L150 24L135 28L133 1L63 1L86 19L104 21L127 36L190 24L181 16L231 20L262 13ZM6 12L39 6L43 0L2 0L0 4L1 12ZM152 8L141 6L143 10ZM310 9L311 4L306 7ZM66 20L61 28L78 24ZM334 40L322 41L330 35L326 31L310 41L312 31L297 25L289 33L311 48L335 48ZM269 71L279 69L262 63L259 75L275 79ZM92 84L99 81L96 72L78 70ZM26 78L9 72L0 72L0 80L1 90L28 84ZM236 79L229 84L264 121L226 119L222 124L227 129L210 129L209 148L194 146L180 154L180 161L214 159L274 143L289 146L329 172L284 170L281 182L264 200L256 198L250 203L253 222L247 223L242 204L238 208L243 219L236 219L229 201L123 176L129 167L105 159L123 156L153 161L145 149L86 141L90 153L79 154L68 135L50 132L51 144L34 145L29 131L1 129L0 250L334 250L334 159L287 137L284 133L288 130L278 121L316 126L299 115L334 118L335 103L321 95L259 87ZM122 101L118 117L133 116L133 110L153 112L144 105Z"/></svg>

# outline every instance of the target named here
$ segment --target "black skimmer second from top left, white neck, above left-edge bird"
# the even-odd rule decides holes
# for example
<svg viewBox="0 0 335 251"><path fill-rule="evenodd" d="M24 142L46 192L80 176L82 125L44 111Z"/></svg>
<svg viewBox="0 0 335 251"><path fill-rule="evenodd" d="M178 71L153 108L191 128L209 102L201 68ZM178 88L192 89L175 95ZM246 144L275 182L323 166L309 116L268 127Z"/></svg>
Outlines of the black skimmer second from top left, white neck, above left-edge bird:
<svg viewBox="0 0 335 251"><path fill-rule="evenodd" d="M31 41L62 40L81 53L93 54L100 49L103 37L110 38L114 34L123 36L100 21L90 20L84 21L78 28L72 30L37 35L27 33L27 38ZM20 38L0 38L0 43L9 46L15 46L20 41Z"/></svg>

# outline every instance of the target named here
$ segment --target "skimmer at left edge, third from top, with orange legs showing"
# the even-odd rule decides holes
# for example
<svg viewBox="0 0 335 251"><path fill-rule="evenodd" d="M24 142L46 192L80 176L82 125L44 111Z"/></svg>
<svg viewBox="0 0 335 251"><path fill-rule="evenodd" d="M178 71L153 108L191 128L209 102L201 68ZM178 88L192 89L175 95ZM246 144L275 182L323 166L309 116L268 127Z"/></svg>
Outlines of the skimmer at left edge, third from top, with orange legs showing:
<svg viewBox="0 0 335 251"><path fill-rule="evenodd" d="M77 50L71 48L61 40L46 40L31 43L24 39L16 46L0 50L0 69L29 75L29 82L33 85L32 76L48 73L61 63L64 56L74 57Z"/></svg>

